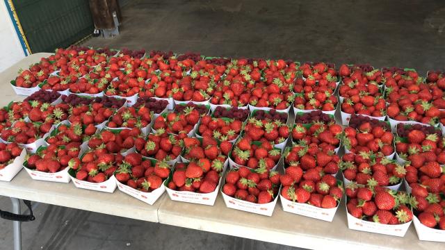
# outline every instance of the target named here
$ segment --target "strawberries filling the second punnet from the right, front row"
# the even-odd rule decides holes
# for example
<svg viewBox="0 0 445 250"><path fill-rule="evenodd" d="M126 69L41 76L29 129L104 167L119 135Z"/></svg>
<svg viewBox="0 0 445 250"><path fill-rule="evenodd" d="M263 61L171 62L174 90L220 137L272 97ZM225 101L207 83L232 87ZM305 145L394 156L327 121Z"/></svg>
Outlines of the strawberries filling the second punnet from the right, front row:
<svg viewBox="0 0 445 250"><path fill-rule="evenodd" d="M410 197L405 192L386 188L346 186L348 213L358 219L380 224L411 222Z"/></svg>

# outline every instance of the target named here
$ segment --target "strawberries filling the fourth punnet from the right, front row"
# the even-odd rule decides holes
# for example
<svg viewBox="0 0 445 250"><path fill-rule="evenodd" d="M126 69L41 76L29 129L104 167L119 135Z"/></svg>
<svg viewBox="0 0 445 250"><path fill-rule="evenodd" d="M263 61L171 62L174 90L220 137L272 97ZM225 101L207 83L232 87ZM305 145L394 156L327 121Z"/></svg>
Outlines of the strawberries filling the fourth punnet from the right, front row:
<svg viewBox="0 0 445 250"><path fill-rule="evenodd" d="M227 172L223 193L252 203L270 203L280 189L280 174L265 168L240 167Z"/></svg>

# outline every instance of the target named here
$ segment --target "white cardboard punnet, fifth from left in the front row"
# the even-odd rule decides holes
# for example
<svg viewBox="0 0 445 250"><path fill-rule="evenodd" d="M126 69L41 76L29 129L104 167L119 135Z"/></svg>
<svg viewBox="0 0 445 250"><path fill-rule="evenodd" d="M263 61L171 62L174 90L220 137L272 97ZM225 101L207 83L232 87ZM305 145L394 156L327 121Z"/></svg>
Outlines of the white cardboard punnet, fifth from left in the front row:
<svg viewBox="0 0 445 250"><path fill-rule="evenodd" d="M224 164L223 173L225 172L226 169L227 169L227 160L225 161ZM168 188L168 183L172 179L171 178L172 174L173 173L171 173L170 177L164 182L165 190L167 190L168 197L170 197L172 201L182 201L182 202L196 203L207 206L213 206L215 204L216 197L218 196L218 192L221 187L221 183L223 182L223 177L220 177L220 181L216 186L215 191L208 194L202 194L197 192L171 190L170 188Z"/></svg>

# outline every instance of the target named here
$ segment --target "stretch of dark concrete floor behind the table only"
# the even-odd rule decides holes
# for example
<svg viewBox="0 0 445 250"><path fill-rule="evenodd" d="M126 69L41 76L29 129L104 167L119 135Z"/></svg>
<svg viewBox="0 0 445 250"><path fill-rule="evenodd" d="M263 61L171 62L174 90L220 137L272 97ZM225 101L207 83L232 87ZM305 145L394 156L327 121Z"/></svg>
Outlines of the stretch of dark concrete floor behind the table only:
<svg viewBox="0 0 445 250"><path fill-rule="evenodd" d="M445 68L445 1L133 0L121 35L85 42L206 56Z"/></svg>

